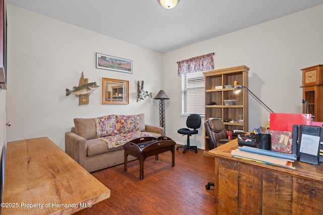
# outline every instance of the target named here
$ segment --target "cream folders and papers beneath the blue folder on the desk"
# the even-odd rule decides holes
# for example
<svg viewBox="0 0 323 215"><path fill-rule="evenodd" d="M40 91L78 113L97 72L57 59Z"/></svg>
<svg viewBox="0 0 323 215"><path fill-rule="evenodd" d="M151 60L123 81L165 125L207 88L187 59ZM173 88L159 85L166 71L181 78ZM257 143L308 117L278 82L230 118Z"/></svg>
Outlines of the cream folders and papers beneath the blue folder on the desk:
<svg viewBox="0 0 323 215"><path fill-rule="evenodd" d="M239 147L239 148L242 148L242 147ZM269 164L274 166L295 169L295 167L293 167L293 163L295 160L243 151L243 150L240 150L239 148L236 150L232 150L231 155L233 155L236 158L240 158L247 161L255 161L262 164Z"/></svg>

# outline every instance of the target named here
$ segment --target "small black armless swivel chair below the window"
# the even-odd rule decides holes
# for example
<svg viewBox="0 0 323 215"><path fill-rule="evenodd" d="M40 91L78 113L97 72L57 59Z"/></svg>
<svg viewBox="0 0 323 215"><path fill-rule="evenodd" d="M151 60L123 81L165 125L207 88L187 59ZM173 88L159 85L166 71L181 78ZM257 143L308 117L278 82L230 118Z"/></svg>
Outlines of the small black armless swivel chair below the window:
<svg viewBox="0 0 323 215"><path fill-rule="evenodd" d="M190 146L190 136L192 134L198 133L198 130L196 129L201 127L201 116L196 113L189 115L186 120L186 126L189 128L193 128L193 130L190 130L188 128L181 128L177 131L180 134L187 135L187 144L182 147L177 147L176 150L178 150L179 148L184 148L183 154L187 150L195 150L195 153L197 153L197 146Z"/></svg>

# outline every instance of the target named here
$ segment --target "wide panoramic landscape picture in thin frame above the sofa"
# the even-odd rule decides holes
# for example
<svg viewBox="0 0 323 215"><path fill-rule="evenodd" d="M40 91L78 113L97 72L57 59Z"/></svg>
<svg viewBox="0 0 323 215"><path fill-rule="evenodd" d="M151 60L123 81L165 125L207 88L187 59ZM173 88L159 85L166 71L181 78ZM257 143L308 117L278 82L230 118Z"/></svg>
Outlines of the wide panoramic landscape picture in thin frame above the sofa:
<svg viewBox="0 0 323 215"><path fill-rule="evenodd" d="M132 60L96 53L96 68L132 74Z"/></svg>

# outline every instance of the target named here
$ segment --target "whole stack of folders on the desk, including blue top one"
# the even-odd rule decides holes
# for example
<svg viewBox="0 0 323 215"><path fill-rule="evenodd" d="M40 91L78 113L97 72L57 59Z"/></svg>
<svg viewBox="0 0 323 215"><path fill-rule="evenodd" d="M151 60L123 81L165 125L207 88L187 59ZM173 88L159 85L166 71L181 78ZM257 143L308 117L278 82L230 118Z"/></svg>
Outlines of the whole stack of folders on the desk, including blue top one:
<svg viewBox="0 0 323 215"><path fill-rule="evenodd" d="M293 163L297 159L295 155L247 146L238 147L238 149L232 150L231 155L247 161L255 161L292 169L295 169L295 167L293 167Z"/></svg>

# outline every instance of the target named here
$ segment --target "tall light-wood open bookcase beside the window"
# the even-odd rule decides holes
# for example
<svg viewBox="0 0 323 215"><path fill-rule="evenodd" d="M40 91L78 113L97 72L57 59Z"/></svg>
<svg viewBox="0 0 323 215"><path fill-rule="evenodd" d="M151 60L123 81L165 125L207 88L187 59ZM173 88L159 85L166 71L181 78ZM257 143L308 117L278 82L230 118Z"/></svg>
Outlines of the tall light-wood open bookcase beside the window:
<svg viewBox="0 0 323 215"><path fill-rule="evenodd" d="M249 67L241 65L203 73L205 76L205 120L211 117L221 117L227 130L248 130L248 93L244 90L239 94L233 93L235 81L238 85L248 87L248 71ZM225 85L232 86L225 88ZM225 100L235 100L235 105L225 105ZM211 102L217 105L209 105ZM242 116L243 121L240 123L238 116ZM230 122L230 119L234 122ZM208 136L205 132L204 155L208 156L209 149Z"/></svg>

